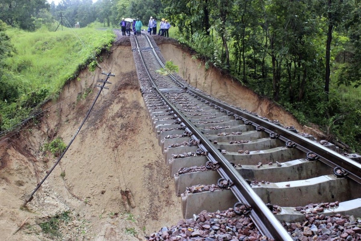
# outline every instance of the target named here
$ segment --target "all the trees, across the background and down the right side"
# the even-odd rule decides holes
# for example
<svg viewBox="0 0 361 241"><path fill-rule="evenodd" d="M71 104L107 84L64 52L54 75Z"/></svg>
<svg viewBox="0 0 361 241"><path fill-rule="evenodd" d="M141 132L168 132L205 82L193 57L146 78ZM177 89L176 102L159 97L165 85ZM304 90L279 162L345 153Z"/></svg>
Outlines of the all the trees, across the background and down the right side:
<svg viewBox="0 0 361 241"><path fill-rule="evenodd" d="M122 17L150 16L167 18L206 68L225 70L345 150L361 150L360 0L0 0L0 20L26 31L117 28ZM2 31L0 76L16 52ZM16 99L16 88L4 86Z"/></svg>

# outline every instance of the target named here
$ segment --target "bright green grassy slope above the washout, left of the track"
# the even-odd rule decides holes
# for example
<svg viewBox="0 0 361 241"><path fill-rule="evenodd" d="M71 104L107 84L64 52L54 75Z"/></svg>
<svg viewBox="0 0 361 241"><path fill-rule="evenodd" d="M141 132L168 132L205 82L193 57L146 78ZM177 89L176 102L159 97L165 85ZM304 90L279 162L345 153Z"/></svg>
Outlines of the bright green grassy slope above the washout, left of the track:
<svg viewBox="0 0 361 241"><path fill-rule="evenodd" d="M6 60L4 82L16 86L17 91L15 100L0 100L0 132L27 119L44 100L57 99L65 83L92 61L99 61L99 54L110 49L115 37L111 30L93 27L63 27L56 32L9 28L6 34L16 53Z"/></svg>

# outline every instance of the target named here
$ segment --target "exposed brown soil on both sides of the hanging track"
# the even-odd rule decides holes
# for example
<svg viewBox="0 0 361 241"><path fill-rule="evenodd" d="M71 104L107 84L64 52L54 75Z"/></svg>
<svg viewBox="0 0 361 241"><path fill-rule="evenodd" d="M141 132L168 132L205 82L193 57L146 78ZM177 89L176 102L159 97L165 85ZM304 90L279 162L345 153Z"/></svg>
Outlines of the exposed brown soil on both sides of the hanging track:
<svg viewBox="0 0 361 241"><path fill-rule="evenodd" d="M192 60L191 54L173 40L153 37L161 44L165 59L173 60L179 75L193 86L235 106L301 128L291 115L222 72L212 68L205 71L203 63ZM45 104L36 123L1 139L2 240L61 239L45 234L38 224L68 210L68 222L59 223L64 240L143 240L145 233L182 219L181 200L175 196L173 179L139 91L129 38L117 39L103 59L104 72L115 74L108 80L112 82L107 84L109 90L103 90L71 147L27 208L21 208L25 195L57 160L42 151L42 146L56 137L66 144L71 141L99 89L82 93L106 76L100 70L83 70L80 81L69 82L57 102ZM120 195L126 188L136 203L130 212L125 211ZM13 234L24 220L22 229Z"/></svg>

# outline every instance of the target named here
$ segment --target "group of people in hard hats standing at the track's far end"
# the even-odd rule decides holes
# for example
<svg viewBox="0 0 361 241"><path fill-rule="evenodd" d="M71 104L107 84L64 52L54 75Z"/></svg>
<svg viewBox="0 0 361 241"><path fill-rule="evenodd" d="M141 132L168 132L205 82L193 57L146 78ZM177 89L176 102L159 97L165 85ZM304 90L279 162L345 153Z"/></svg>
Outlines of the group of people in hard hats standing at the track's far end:
<svg viewBox="0 0 361 241"><path fill-rule="evenodd" d="M119 25L121 26L122 29L122 35L123 36L130 36L130 24L131 22L125 21L124 18L122 18L122 21L119 23ZM143 23L142 21L139 20L139 18L133 19L132 22L132 30L134 32L134 35L140 35L140 31L143 27ZM166 36L167 38L169 37L169 33L168 30L170 28L170 23L168 22L168 20L166 20L165 18L162 18L162 21L160 22L159 25L159 31L158 31L158 35L160 36ZM157 21L156 19L153 17L151 17L148 21L148 33L149 35L153 35L157 34Z"/></svg>

